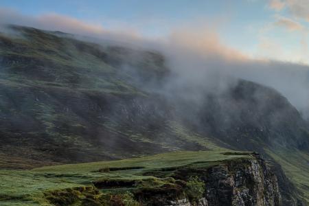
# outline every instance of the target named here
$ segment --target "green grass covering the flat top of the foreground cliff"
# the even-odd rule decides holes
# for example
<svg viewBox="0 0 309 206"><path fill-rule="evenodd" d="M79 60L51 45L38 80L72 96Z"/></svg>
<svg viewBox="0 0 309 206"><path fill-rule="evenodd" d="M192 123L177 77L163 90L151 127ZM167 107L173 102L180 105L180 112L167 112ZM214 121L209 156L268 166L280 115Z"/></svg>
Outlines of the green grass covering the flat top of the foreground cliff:
<svg viewBox="0 0 309 206"><path fill-rule="evenodd" d="M230 159L249 157L248 153L229 153L222 151L172 152L150 157L102 161L71 165L56 165L34 170L0 170L0 205L49 205L44 193L55 190L91 186L100 181L135 181L137 187L161 187L174 185L172 178L159 178L145 175L153 171L172 171L168 168L209 167ZM135 186L136 186L135 185ZM102 192L134 188L107 188Z"/></svg>

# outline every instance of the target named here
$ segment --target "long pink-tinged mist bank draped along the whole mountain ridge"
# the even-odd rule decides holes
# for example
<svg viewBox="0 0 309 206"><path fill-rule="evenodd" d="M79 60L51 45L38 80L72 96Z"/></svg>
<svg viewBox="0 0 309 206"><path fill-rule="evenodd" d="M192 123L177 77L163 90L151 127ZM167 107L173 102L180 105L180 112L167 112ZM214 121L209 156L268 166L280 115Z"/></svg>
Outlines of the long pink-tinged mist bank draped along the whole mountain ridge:
<svg viewBox="0 0 309 206"><path fill-rule="evenodd" d="M196 102L201 93L222 93L233 87L237 79L250 80L282 93L297 110L309 119L309 66L293 62L253 59L223 44L211 27L184 27L161 38L144 38L135 31L108 31L100 25L58 14L25 16L0 9L0 31L12 34L5 24L25 25L43 30L74 34L83 41L102 45L117 44L135 49L157 51L165 57L171 71L163 93L178 93ZM14 33L14 32L13 32ZM124 67L126 67L124 65ZM163 89L162 89L163 88Z"/></svg>

